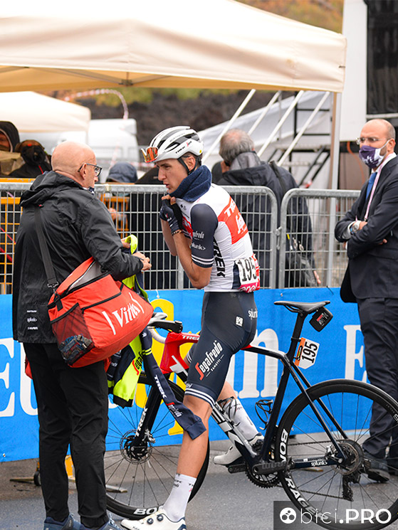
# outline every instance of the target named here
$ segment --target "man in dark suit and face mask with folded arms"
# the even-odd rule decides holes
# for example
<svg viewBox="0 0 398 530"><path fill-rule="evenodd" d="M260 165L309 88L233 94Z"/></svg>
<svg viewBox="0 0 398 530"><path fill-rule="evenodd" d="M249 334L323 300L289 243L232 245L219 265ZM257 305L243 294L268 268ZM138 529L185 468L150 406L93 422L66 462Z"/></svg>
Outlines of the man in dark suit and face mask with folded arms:
<svg viewBox="0 0 398 530"><path fill-rule="evenodd" d="M348 255L341 296L358 305L370 383L398 401L398 158L394 127L386 120L370 120L357 143L360 159L372 174L335 227L335 237L345 244ZM377 406L372 410L370 433L372 440L362 445L367 475L385 482L389 475L398 474L398 435L380 417Z"/></svg>

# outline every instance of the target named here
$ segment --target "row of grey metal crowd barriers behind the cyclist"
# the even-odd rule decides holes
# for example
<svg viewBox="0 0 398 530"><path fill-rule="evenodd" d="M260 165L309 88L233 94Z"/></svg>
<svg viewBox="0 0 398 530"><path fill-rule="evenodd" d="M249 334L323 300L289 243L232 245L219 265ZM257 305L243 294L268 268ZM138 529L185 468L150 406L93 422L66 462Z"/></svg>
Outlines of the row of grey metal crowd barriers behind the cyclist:
<svg viewBox="0 0 398 530"><path fill-rule="evenodd" d="M31 182L0 182L0 293L11 293L14 242L19 226L21 194ZM320 276L320 285L337 287L345 270L345 251L335 242L334 226L350 208L359 192L330 190L291 190L283 198L281 226L278 228L278 205L271 189L263 186L228 186L248 226L253 251L260 264L261 287L305 287L285 284L285 250L288 208L292 201L304 198L312 224L313 260ZM159 222L159 208L164 186L98 184L95 193L105 203L120 237L133 233L138 238L138 250L151 258L152 270L145 272L147 290L189 289L177 258L170 255L164 243ZM296 216L297 217L297 216ZM297 222L297 218L293 224ZM308 236L308 234L307 234ZM305 238L297 234L296 238Z"/></svg>

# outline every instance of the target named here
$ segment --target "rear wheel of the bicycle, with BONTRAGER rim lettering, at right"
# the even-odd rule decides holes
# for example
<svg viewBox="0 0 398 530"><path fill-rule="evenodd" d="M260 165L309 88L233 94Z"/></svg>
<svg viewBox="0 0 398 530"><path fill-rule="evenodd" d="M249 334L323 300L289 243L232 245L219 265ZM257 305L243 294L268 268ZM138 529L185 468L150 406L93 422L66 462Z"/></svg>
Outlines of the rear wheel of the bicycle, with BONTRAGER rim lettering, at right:
<svg viewBox="0 0 398 530"><path fill-rule="evenodd" d="M398 477L390 475L384 483L367 477L362 443L372 439L369 430L372 404L377 403L379 413L386 415L398 430L398 403L375 386L345 379L323 381L308 388L307 393L312 402L319 404L317 400L322 400L341 425L347 439L322 412L338 445L345 447L346 454L350 455L350 462L327 464L326 455L330 457L330 450L333 450L330 439L305 396L295 398L278 427L276 460L287 460L288 465L289 462L293 465L279 472L279 477L295 506L296 516L304 517L306 524L314 521L333 530L378 530L391 524L398 518ZM320 410L319 406L317 408ZM387 435L391 432L391 429L386 430ZM388 451L393 454L394 450L398 453L397 443L390 444L387 454ZM299 466L305 458L314 457L318 462L313 460L312 468L294 467L294 462ZM293 517L293 514L288 515ZM282 515L281 519L283 521Z"/></svg>

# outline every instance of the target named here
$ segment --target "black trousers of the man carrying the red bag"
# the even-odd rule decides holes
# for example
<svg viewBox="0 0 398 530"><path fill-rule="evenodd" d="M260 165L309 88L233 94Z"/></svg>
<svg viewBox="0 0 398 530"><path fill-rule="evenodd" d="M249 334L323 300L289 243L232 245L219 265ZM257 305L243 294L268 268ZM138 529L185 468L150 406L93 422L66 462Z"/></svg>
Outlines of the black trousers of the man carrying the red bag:
<svg viewBox="0 0 398 530"><path fill-rule="evenodd" d="M56 344L23 344L38 403L39 460L46 516L69 514L65 457L70 452L78 512L88 528L108 521L104 453L108 431L108 383L103 361L70 368Z"/></svg>

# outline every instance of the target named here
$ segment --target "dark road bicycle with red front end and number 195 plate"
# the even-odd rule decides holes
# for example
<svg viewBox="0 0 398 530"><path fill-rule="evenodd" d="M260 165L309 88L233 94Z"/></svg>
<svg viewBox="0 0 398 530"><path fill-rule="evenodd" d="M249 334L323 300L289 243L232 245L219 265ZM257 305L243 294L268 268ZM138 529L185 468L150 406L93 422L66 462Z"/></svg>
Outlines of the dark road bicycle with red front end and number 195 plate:
<svg viewBox="0 0 398 530"><path fill-rule="evenodd" d="M387 457L394 451L398 454L398 447L391 441L398 432L398 403L379 388L360 381L335 379L310 386L300 365L315 362L317 344L300 334L310 314L310 324L318 331L328 324L332 314L325 305L329 302L274 303L297 315L288 351L253 345L245 349L283 364L274 400L256 403L263 423L263 441L252 447L219 403L212 413L241 452L241 459L229 465L229 471L246 472L259 487L282 487L304 518L310 517L325 528L381 529L398 518L398 477L391 470L387 482L370 479L367 474L374 462L364 453L362 444L374 437L370 428L373 410L374 418L384 418L389 425L383 433L390 440ZM161 317L152 319L151 325L168 332L160 368L167 377L174 372L181 381L186 380L188 366L180 347L197 342L199 334L184 333L181 322ZM281 414L290 378L299 393ZM173 381L169 384L182 401L183 388ZM142 374L133 406L117 408L116 419L110 420L105 454L108 509L140 519L164 503L177 469L181 433L162 403L157 386ZM175 444L164 445L162 440L170 434L175 435ZM209 447L191 499L201 487L208 463Z"/></svg>

